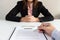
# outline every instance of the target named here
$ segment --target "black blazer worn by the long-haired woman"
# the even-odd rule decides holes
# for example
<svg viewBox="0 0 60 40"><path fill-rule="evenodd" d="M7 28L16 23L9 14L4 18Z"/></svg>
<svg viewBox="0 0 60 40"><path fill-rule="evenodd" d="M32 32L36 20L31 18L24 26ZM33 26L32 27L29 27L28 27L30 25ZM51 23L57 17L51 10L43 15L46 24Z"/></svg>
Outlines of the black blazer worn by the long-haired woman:
<svg viewBox="0 0 60 40"><path fill-rule="evenodd" d="M23 1L18 1L17 5L6 15L6 20L20 22L20 19L22 17L28 15L28 9L27 7L23 9L23 5ZM38 2L37 5L37 8L33 8L32 15L34 17L38 17L39 14L42 13L44 17L38 17L40 19L40 22L51 21L54 19L51 13L43 6L42 2ZM21 17L16 16L19 12L21 14Z"/></svg>

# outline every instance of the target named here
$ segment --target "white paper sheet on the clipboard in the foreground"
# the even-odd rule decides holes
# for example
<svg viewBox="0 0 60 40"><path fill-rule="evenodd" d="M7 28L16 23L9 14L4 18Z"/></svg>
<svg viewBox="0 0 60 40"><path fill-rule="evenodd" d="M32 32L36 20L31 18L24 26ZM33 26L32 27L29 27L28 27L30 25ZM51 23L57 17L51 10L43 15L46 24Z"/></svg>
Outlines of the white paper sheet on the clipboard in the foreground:
<svg viewBox="0 0 60 40"><path fill-rule="evenodd" d="M47 36L47 38L48 40L52 40L49 36ZM10 40L46 40L46 38L37 30L17 27Z"/></svg>

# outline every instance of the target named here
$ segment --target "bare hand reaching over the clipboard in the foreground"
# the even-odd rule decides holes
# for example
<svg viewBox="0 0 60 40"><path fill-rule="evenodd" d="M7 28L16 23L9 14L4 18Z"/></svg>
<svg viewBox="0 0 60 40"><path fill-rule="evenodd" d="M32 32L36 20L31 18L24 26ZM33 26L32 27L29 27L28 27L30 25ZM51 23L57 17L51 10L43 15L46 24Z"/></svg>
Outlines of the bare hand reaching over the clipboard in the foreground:
<svg viewBox="0 0 60 40"><path fill-rule="evenodd" d="M54 29L55 29L54 26L52 24L50 24L50 23L42 23L38 27L39 32L43 32L42 30L44 30L44 32L46 34L48 34L49 36L51 36Z"/></svg>

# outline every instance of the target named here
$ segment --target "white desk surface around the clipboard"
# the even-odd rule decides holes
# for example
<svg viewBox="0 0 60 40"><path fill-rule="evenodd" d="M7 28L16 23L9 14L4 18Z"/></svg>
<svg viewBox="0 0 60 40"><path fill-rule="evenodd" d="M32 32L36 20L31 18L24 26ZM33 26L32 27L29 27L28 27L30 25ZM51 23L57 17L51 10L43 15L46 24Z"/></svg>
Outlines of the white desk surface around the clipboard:
<svg viewBox="0 0 60 40"><path fill-rule="evenodd" d="M50 21L58 30L60 30L60 19L55 19L54 21ZM0 40L8 40L13 29L18 26L24 25L34 25L39 26L40 22L11 22L0 20Z"/></svg>

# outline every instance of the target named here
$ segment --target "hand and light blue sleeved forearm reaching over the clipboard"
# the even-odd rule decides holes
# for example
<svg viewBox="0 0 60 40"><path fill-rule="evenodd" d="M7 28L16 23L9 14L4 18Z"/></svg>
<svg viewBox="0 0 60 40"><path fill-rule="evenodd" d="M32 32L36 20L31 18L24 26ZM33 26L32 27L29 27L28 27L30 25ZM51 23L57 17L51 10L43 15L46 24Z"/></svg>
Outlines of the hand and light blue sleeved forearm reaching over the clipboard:
<svg viewBox="0 0 60 40"><path fill-rule="evenodd" d="M43 32L42 30L44 30L44 32L51 36L53 38L53 40L60 40L60 31L58 31L52 24L50 23L42 23L39 27L38 27L39 32Z"/></svg>

